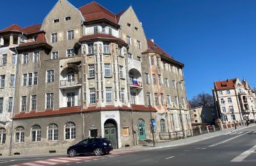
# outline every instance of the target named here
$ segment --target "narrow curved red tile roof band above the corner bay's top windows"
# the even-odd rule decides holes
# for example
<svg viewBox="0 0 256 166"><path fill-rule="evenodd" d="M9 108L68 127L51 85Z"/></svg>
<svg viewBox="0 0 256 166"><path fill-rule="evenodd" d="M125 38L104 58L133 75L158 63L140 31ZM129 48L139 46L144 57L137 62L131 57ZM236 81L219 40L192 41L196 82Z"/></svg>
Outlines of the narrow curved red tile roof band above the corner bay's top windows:
<svg viewBox="0 0 256 166"><path fill-rule="evenodd" d="M116 38L115 36L112 36L110 34L104 34L104 33L97 33L97 34L90 34L90 35L87 35L87 36L83 36L82 38L80 38L79 41L86 41L86 40L93 40L93 39L116 40L116 41L119 41L119 42L124 43L125 45L127 45L127 43L125 43L124 40L122 40L120 38Z"/></svg>

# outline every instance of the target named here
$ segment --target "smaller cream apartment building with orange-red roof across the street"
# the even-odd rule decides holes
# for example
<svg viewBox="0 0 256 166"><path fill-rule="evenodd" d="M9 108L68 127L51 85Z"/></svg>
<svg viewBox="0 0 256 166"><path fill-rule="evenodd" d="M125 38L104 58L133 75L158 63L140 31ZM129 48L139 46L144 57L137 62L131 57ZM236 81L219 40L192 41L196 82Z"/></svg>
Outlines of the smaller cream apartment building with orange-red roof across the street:
<svg viewBox="0 0 256 166"><path fill-rule="evenodd" d="M227 79L214 82L214 102L223 123L255 121L256 97L246 80Z"/></svg>

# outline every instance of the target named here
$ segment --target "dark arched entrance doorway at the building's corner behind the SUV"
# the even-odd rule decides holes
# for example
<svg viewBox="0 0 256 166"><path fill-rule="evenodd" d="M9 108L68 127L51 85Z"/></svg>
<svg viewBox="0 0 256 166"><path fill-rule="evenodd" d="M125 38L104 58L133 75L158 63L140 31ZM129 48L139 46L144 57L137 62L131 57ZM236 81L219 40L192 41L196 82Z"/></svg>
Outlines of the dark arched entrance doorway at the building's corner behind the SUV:
<svg viewBox="0 0 256 166"><path fill-rule="evenodd" d="M113 119L108 119L104 123L104 137L112 142L112 146L116 149L118 147L117 127Z"/></svg>

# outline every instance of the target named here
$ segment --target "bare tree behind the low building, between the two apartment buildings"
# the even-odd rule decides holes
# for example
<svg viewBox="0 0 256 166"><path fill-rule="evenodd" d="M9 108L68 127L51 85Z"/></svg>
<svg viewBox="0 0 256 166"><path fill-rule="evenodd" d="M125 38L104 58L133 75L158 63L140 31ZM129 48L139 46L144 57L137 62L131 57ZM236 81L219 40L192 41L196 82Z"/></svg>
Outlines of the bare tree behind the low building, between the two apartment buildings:
<svg viewBox="0 0 256 166"><path fill-rule="evenodd" d="M201 107L201 106L214 106L213 97L208 93L199 93L194 96L190 101L191 108Z"/></svg>

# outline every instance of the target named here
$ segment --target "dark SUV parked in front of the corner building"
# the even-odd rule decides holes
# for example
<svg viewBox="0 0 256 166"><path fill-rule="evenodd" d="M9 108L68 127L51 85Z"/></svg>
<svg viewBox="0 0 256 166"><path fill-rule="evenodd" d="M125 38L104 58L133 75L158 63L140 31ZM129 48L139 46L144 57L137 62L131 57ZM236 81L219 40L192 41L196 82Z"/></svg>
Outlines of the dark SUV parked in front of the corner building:
<svg viewBox="0 0 256 166"><path fill-rule="evenodd" d="M113 151L113 146L110 140L92 138L84 139L74 146L68 147L67 154L70 157L74 157L80 154L94 154L96 156L100 156L103 153L108 154L110 151Z"/></svg>

